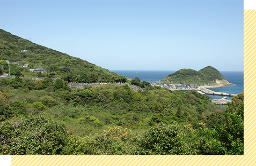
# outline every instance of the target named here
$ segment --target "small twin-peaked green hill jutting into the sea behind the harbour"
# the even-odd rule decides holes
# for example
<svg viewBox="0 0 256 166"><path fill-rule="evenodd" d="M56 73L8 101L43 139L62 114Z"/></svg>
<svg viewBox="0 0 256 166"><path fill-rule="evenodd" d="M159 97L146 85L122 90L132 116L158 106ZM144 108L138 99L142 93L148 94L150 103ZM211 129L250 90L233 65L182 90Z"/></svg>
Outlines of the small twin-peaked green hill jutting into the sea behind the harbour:
<svg viewBox="0 0 256 166"><path fill-rule="evenodd" d="M207 66L198 72L193 69L180 69L177 72L168 75L163 80L164 84L180 83L180 84L223 84L231 85L224 76L214 67Z"/></svg>

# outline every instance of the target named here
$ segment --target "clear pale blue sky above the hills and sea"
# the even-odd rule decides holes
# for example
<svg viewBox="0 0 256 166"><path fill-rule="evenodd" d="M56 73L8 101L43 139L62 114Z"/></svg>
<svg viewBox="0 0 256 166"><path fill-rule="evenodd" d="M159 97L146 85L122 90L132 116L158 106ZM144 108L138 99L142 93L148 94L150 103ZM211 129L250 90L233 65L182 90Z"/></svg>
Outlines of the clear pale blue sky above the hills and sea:
<svg viewBox="0 0 256 166"><path fill-rule="evenodd" d="M2 1L0 28L109 70L244 70L244 1Z"/></svg>

